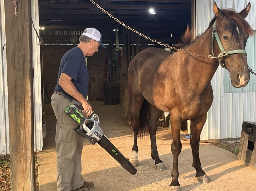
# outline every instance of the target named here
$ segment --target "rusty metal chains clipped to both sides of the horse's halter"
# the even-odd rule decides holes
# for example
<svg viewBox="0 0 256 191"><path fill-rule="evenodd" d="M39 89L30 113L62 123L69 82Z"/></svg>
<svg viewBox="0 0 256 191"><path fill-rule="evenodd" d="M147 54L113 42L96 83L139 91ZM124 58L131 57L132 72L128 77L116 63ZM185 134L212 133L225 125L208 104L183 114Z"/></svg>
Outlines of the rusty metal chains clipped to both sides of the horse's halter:
<svg viewBox="0 0 256 191"><path fill-rule="evenodd" d="M177 48L171 47L171 46L169 46L169 45L167 45L167 44L163 44L163 43L161 43L161 42L158 42L158 41L156 41L156 40L154 40L154 39L151 39L150 37L148 37L148 36L146 36L146 35L144 35L144 34L138 32L138 31L136 31L135 29L129 27L128 25L124 24L122 21L119 21L117 18L115 18L115 17L114 17L113 15L111 15L110 13L108 13L105 9L103 9L100 5L98 5L97 3L95 3L94 0L90 0L90 1L91 1L93 4L95 4L99 9L101 9L104 13L106 13L109 17L111 17L112 19L114 19L116 22L120 23L121 25L123 25L123 26L126 27L127 29L131 30L132 32L134 32L134 33L136 33L136 34L138 34L138 35L140 35L140 36L142 36L142 37L146 38L147 40L150 40L150 41L152 41L152 42L154 42L154 43L157 43L157 44L162 45L162 46L164 46L164 47L170 48L170 49L172 49L172 50L176 50L176 51L183 52L183 53L188 54L188 55L200 56L200 57L203 57L203 58L214 59L214 58L221 58L221 57L226 56L226 54L224 54L224 53L219 54L217 57L213 57L212 55L205 56L205 55L202 55L202 54L190 53L190 52L188 52L188 51L185 51L185 50L182 50L182 49L177 49ZM248 68L249 68L249 72L251 72L252 74L256 75L256 74L252 71L252 69L250 69L249 66L248 66Z"/></svg>

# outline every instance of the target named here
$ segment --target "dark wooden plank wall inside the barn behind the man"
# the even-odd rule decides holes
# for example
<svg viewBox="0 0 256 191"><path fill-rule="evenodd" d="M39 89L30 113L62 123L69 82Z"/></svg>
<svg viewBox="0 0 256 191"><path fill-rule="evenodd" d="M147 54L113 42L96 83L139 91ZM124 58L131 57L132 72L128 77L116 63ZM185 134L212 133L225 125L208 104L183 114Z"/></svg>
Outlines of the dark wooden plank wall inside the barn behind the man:
<svg viewBox="0 0 256 191"><path fill-rule="evenodd" d="M77 45L41 45L42 81L45 87L44 95L50 98L57 84L59 64L62 56ZM89 75L89 99L103 99L103 73L105 60L109 58L109 48L99 48L98 52L87 57ZM95 78L93 82L92 78ZM93 96L94 95L94 96ZM49 102L44 96L45 103ZM95 100L96 100L95 99Z"/></svg>

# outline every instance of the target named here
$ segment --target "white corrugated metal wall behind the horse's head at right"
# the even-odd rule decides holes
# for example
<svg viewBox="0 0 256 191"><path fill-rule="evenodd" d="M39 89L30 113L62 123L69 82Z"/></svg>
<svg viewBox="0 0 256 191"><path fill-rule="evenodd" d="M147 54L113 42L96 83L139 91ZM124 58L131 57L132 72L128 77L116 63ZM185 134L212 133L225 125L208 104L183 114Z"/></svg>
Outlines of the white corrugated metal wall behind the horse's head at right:
<svg viewBox="0 0 256 191"><path fill-rule="evenodd" d="M249 1L250 0L215 0L219 8L232 8L238 12L242 11ZM213 3L214 0L196 1L196 34L201 34L208 28L211 19L214 17ZM256 1L251 1L251 11L246 20L250 23L253 30L256 30L255 10ZM250 68L254 69L254 72L256 71L255 42L256 32L255 36L249 39L246 46L248 64ZM214 100L201 133L201 140L238 138L241 136L243 121L256 121L256 94L254 88L256 85L256 76L251 75L251 80L247 85L248 87L244 90L247 93L225 93L227 91L224 91L224 83L230 81L230 78L224 78L224 76L227 76L224 75L224 73L227 72L224 70L225 69L219 67L211 81ZM252 92L250 92L250 90L252 90ZM230 90L230 92L232 91L233 89ZM236 89L236 91L238 90Z"/></svg>

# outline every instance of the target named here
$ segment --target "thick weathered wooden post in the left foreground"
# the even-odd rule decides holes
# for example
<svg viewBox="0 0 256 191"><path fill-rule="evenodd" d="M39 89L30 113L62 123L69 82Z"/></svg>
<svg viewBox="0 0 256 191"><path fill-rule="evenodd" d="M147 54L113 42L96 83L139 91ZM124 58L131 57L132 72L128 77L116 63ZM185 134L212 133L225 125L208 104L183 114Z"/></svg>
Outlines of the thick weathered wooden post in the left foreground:
<svg viewBox="0 0 256 191"><path fill-rule="evenodd" d="M34 191L31 1L4 0L4 6L11 190Z"/></svg>

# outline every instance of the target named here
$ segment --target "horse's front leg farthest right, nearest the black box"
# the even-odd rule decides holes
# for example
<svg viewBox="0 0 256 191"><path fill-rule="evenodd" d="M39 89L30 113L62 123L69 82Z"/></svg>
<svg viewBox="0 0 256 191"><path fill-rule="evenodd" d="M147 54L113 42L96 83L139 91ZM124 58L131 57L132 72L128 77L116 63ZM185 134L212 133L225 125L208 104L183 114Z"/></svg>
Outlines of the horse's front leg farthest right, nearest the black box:
<svg viewBox="0 0 256 191"><path fill-rule="evenodd" d="M199 182L208 183L210 178L205 174L202 169L200 158L199 158L199 142L200 134L205 124L207 115L205 114L202 118L197 120L191 120L190 123L190 146L193 154L193 163L192 166L196 169L196 177Z"/></svg>

